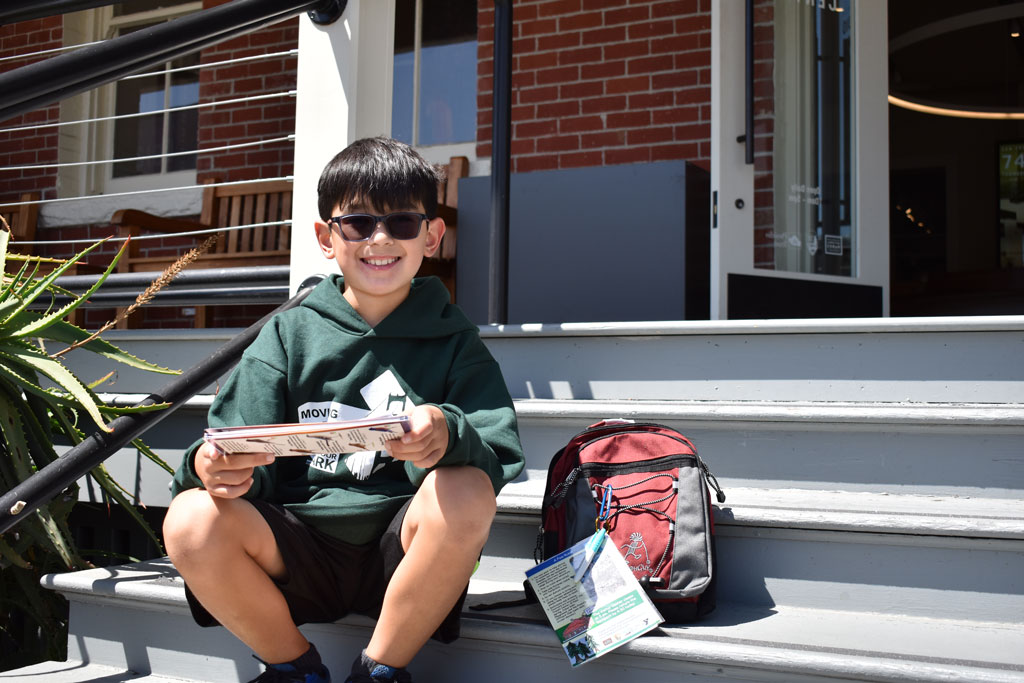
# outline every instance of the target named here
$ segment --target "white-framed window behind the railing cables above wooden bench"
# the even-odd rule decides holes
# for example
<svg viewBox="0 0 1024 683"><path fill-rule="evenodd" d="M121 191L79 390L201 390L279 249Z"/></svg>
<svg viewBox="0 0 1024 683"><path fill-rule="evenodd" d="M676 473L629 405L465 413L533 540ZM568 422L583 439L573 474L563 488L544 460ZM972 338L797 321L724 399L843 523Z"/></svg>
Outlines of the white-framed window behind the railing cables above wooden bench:
<svg viewBox="0 0 1024 683"><path fill-rule="evenodd" d="M201 9L202 4L185 0L134 0L114 7L110 35L123 36ZM199 139L198 110L166 110L199 102L199 53L193 53L154 66L145 74L119 81L114 89L112 158L138 159L111 164L110 185L133 178L164 184L166 176L185 172L195 180L195 154ZM148 116L131 116L153 112ZM165 156L171 155L171 156ZM187 180L188 178L181 178Z"/></svg>

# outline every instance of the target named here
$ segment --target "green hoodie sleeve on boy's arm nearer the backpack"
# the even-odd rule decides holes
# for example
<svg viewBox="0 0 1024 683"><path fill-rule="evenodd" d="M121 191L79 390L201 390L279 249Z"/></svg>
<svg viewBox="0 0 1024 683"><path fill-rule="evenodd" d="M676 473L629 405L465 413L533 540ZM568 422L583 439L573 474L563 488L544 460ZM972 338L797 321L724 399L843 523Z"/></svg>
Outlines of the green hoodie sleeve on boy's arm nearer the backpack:
<svg viewBox="0 0 1024 683"><path fill-rule="evenodd" d="M447 450L435 467L478 467L496 494L522 472L525 459L512 398L498 362L478 337L456 358L444 402L435 405L449 431ZM406 463L406 470L416 485L428 471L412 463Z"/></svg>

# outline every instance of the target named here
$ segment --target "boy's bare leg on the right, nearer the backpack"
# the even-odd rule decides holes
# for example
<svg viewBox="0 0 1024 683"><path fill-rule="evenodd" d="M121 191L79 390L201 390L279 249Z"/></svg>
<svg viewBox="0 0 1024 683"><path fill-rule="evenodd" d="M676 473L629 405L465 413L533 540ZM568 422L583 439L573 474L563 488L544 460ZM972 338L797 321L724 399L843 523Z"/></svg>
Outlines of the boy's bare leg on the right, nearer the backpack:
<svg viewBox="0 0 1024 683"><path fill-rule="evenodd" d="M495 489L476 467L440 467L427 475L401 526L406 557L384 595L367 654L409 665L469 583L495 517Z"/></svg>

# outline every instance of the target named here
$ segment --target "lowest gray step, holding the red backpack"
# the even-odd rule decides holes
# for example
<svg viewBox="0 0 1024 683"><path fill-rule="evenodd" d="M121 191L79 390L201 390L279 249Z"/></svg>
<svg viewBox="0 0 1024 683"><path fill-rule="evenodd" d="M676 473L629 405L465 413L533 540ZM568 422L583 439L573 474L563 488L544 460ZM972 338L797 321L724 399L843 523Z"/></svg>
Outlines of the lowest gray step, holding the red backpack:
<svg viewBox="0 0 1024 683"><path fill-rule="evenodd" d="M500 562L499 562L500 563ZM469 602L518 592L488 563ZM4 681L249 680L248 650L223 629L190 622L180 579L162 560L48 577L72 601L69 663L2 675ZM335 675L345 672L373 623L346 617L303 630ZM418 682L588 680L1024 681L1024 626L722 602L706 621L666 627L572 670L536 605L467 611L453 645L429 644L411 666ZM456 664L457 663L457 664ZM65 669L58 670L62 666ZM45 667L51 667L47 670ZM44 678L40 672L96 672ZM458 674L453 674L457 671ZM133 672L129 678L123 672ZM119 678L120 676L120 678Z"/></svg>

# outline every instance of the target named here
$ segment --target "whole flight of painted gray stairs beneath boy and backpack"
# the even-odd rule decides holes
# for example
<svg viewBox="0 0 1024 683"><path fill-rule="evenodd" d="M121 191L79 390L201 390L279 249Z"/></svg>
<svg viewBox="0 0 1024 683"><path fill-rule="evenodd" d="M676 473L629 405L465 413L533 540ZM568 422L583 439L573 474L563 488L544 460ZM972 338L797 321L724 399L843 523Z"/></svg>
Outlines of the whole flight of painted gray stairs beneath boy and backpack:
<svg viewBox="0 0 1024 683"><path fill-rule="evenodd" d="M516 399L527 470L500 497L472 599L521 590L551 455L592 422L629 417L690 436L726 489L715 511L720 606L579 671L536 606L467 612L462 640L418 656L417 680L1024 681L1024 317L483 335ZM119 343L185 366L224 339L131 331ZM153 385L127 371L112 389L131 402ZM198 396L146 440L176 460L208 402ZM166 504L166 474L122 455L122 480ZM73 597L74 675L106 673L46 680L255 675L227 634L190 624L169 567L104 571L49 581ZM369 627L306 631L338 673Z"/></svg>

